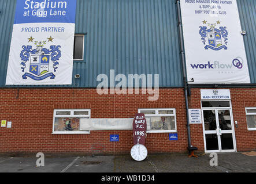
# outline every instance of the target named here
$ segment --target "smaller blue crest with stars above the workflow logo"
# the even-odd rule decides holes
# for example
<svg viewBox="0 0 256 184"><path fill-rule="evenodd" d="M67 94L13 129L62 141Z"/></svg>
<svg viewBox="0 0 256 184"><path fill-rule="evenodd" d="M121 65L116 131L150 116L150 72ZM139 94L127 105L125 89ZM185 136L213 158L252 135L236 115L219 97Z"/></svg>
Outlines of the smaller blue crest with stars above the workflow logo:
<svg viewBox="0 0 256 184"><path fill-rule="evenodd" d="M214 24L208 24L207 21L203 21L203 24L208 26L200 26L199 34L201 35L201 40L205 46L205 49L212 49L214 51L219 51L221 49L227 50L228 47L228 31L227 27L220 26L217 28L218 24L221 22L218 20Z"/></svg>

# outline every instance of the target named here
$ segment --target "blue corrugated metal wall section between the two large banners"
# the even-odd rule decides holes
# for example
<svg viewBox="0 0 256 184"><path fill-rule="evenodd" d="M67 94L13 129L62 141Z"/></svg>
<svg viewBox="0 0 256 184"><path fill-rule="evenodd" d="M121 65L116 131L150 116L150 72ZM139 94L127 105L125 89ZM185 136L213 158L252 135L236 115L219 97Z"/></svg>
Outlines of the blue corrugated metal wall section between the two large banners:
<svg viewBox="0 0 256 184"><path fill-rule="evenodd" d="M181 87L175 1L79 0L76 33L87 33L86 64L76 63L79 86L98 74L159 74L159 85Z"/></svg>

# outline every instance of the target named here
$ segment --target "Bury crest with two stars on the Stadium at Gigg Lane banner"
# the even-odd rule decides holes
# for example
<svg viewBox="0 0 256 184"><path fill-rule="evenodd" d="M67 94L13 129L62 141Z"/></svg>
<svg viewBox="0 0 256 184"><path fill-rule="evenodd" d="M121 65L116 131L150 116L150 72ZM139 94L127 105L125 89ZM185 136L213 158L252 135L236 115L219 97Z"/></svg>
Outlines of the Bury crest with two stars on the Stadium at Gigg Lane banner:
<svg viewBox="0 0 256 184"><path fill-rule="evenodd" d="M53 42L53 38L47 38L48 42ZM22 78L25 80L27 77L35 80L42 81L46 78L54 79L54 72L58 68L58 60L61 57L60 45L51 45L50 49L44 48L46 41L33 41L30 37L29 42L34 42L36 48L32 45L23 45L23 50L20 52L22 60L21 70L24 72ZM26 72L25 72L26 71ZM52 72L50 72L52 71Z"/></svg>

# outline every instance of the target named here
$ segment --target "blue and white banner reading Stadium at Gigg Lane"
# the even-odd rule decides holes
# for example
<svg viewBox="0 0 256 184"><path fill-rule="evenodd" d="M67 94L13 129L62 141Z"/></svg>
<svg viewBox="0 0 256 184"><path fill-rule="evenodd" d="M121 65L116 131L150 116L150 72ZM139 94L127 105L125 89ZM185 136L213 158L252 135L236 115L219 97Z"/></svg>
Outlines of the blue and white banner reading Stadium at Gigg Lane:
<svg viewBox="0 0 256 184"><path fill-rule="evenodd" d="M17 0L6 85L71 85L76 0Z"/></svg>

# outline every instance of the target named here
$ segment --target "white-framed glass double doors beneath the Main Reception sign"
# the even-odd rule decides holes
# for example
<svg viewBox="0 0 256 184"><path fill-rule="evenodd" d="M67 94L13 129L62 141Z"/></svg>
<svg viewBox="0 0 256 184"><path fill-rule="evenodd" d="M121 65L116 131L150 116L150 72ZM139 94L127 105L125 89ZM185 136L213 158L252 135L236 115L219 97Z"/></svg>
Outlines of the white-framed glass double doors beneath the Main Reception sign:
<svg viewBox="0 0 256 184"><path fill-rule="evenodd" d="M235 152L232 108L202 108L205 152Z"/></svg>

